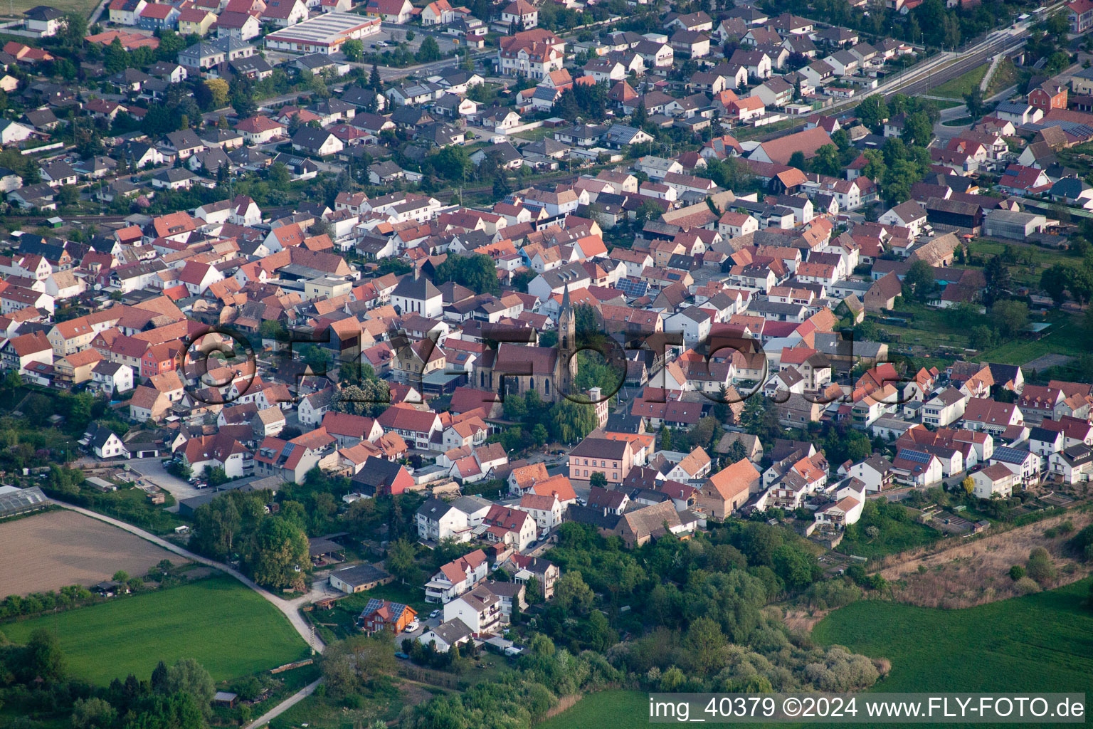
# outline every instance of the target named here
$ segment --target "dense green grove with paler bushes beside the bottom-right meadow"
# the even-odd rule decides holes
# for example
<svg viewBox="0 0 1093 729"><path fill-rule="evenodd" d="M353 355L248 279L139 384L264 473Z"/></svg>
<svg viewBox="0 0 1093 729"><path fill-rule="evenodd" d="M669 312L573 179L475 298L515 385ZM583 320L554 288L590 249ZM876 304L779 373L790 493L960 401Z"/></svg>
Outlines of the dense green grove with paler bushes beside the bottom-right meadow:
<svg viewBox="0 0 1093 729"><path fill-rule="evenodd" d="M846 691L877 680L865 657L814 648L764 610L822 576L791 532L732 522L633 551L572 522L560 537L548 556L563 578L539 624L571 650L607 648L613 666L650 689ZM639 637L615 645L624 630Z"/></svg>

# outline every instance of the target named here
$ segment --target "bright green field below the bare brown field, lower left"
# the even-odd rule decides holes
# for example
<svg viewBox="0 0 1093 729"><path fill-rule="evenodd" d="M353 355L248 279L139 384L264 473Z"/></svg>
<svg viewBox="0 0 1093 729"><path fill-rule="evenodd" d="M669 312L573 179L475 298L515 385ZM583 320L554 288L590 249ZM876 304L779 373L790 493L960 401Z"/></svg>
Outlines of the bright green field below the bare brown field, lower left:
<svg viewBox="0 0 1093 729"><path fill-rule="evenodd" d="M222 681L308 652L277 608L227 576L9 623L0 631L24 643L38 627L56 630L73 674L103 685L128 673L146 679L161 659L196 658Z"/></svg>

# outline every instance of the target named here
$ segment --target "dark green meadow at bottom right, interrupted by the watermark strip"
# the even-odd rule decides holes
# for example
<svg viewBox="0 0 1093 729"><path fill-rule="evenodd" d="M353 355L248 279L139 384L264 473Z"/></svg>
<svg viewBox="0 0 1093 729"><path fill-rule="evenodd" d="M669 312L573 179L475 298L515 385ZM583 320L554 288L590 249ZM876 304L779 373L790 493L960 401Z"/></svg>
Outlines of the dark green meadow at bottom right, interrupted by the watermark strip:
<svg viewBox="0 0 1093 729"><path fill-rule="evenodd" d="M1057 590L965 610L862 600L833 612L812 635L819 644L845 645L892 661L891 672L877 683L875 691L1090 694L1093 610L1085 598L1091 584L1093 579L1083 579ZM539 727L648 727L647 702L647 694L634 691L592 694ZM780 726L788 729L789 725Z"/></svg>

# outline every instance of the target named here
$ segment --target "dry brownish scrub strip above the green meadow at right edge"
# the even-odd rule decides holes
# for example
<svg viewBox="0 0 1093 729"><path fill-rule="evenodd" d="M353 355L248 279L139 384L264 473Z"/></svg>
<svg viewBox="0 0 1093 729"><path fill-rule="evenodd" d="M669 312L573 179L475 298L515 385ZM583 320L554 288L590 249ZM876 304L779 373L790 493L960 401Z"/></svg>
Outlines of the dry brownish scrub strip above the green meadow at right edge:
<svg viewBox="0 0 1093 729"><path fill-rule="evenodd" d="M1045 530L1070 521L1073 529L1048 538ZM1036 524L969 541L943 552L910 558L880 571L890 583L898 580L894 599L930 608L968 608L1004 600L1018 591L1010 579L1012 565L1029 561L1029 553L1043 546L1055 558L1058 585L1077 581L1093 572L1066 551L1074 532L1093 522L1093 514L1070 512Z"/></svg>

